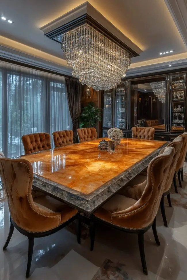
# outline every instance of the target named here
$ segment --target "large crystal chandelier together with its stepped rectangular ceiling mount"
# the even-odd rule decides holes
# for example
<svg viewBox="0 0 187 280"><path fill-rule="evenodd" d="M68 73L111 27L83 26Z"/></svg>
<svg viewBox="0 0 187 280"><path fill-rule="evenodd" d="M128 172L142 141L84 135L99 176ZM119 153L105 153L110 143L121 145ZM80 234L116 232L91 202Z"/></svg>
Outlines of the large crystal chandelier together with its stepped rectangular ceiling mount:
<svg viewBox="0 0 187 280"><path fill-rule="evenodd" d="M86 12L82 16L77 12L75 18L75 9L78 11L80 7L82 13L83 9ZM138 56L139 53L134 50L136 49L134 46L133 49L129 46L129 39L125 35L123 37L126 39L124 40L124 37L122 40L128 41L129 45L115 36L114 31L111 32L110 22L107 22L107 29L99 24L95 20L97 16L94 18L92 16L93 11L98 13L102 22L106 19L88 2L75 9L68 12L68 16L66 14L66 22L62 16L61 22L58 19L59 26L54 20L41 30L44 30L45 36L61 43L67 65L73 68L72 75L79 78L82 84L87 84L89 88L95 90L115 88L130 66L131 57ZM72 14L74 19L67 23L67 18L72 19ZM49 26L50 30L46 32ZM115 28L115 34L118 32L119 30Z"/></svg>

